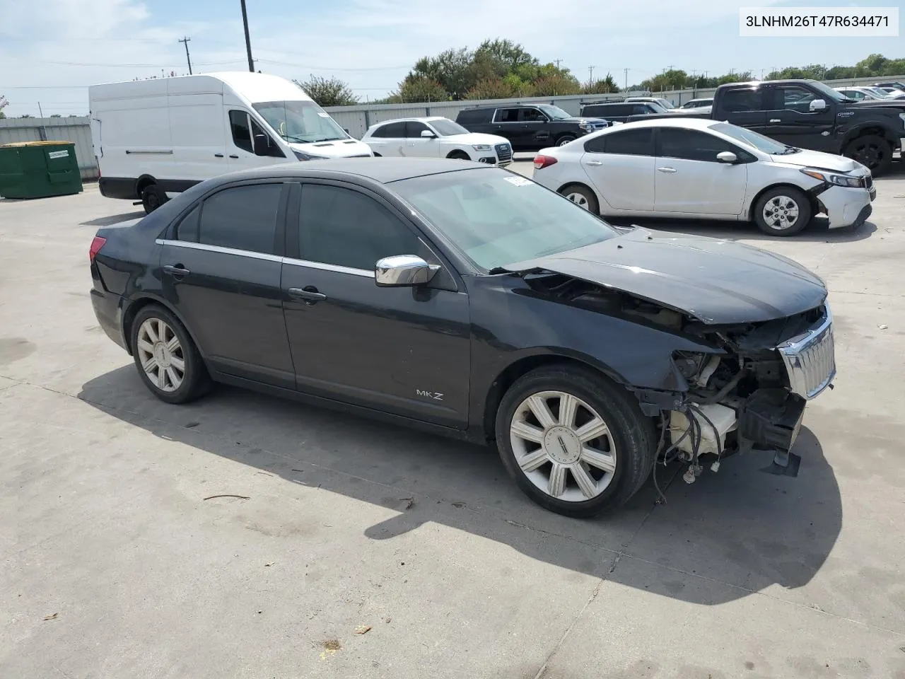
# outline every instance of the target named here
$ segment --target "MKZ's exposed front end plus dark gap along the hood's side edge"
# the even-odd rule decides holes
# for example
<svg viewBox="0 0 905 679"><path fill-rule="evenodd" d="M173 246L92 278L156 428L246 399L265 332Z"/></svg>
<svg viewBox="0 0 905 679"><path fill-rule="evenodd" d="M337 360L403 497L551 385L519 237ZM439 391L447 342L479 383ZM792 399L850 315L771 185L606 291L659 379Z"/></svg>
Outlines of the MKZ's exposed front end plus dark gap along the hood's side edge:
<svg viewBox="0 0 905 679"><path fill-rule="evenodd" d="M565 274L533 273L525 280L566 303L712 348L673 352L685 388L671 406L660 406L658 415L645 410L660 421L660 461L688 462L687 483L693 483L704 459L716 472L724 457L750 450L771 452L773 473L797 473L799 458L790 451L805 403L830 386L835 374L832 317L825 303L785 318L719 325Z"/></svg>

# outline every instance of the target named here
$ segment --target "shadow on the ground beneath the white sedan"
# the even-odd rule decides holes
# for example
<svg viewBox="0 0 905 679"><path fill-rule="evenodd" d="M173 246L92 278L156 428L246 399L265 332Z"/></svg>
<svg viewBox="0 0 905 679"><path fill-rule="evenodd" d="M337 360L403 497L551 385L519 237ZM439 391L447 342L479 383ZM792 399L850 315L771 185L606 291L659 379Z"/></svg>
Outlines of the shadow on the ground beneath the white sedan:
<svg viewBox="0 0 905 679"><path fill-rule="evenodd" d="M709 219L689 219L677 222L674 219L618 219L610 217L607 217L606 221L614 226L637 225L663 233L702 235L728 241L788 240L805 243L849 243L866 240L877 231L877 225L873 222L865 222L857 229L831 229L829 228L829 220L822 216L814 217L814 221L800 234L788 236L787 238L765 234L751 222L727 222Z"/></svg>

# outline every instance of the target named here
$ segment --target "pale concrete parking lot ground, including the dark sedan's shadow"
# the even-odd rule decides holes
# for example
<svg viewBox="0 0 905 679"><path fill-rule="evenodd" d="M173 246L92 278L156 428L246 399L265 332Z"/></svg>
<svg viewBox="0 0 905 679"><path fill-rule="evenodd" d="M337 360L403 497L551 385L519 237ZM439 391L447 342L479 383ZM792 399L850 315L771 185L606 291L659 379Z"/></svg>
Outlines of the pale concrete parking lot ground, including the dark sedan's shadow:
<svg viewBox="0 0 905 679"><path fill-rule="evenodd" d="M671 468L666 504L594 521L482 448L157 401L88 294L91 236L137 208L0 201L0 677L905 677L905 171L877 185L853 233L666 227L819 273L839 373L798 478Z"/></svg>

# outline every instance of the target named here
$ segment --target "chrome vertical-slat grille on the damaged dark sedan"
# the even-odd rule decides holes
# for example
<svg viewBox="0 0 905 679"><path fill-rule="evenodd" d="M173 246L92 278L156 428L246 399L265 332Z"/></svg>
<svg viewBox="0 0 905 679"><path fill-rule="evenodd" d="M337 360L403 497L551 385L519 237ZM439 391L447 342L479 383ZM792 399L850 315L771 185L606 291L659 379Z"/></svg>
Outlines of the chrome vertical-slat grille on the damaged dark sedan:
<svg viewBox="0 0 905 679"><path fill-rule="evenodd" d="M836 375L833 315L829 306L825 306L824 311L823 320L804 335L776 347L786 364L789 387L800 397L814 398Z"/></svg>

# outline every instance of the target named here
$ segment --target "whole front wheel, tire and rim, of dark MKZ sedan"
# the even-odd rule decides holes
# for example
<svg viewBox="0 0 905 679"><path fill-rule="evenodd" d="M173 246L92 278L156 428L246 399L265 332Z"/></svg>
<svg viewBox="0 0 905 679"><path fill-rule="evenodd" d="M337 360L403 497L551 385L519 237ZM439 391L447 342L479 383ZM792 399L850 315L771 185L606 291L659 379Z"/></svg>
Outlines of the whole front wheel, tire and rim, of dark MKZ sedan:
<svg viewBox="0 0 905 679"><path fill-rule="evenodd" d="M572 517L612 511L653 469L653 423L621 387L584 368L538 368L500 402L500 458L541 507Z"/></svg>

